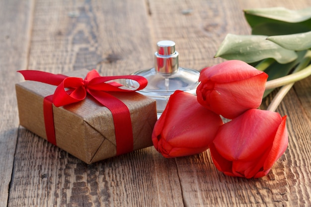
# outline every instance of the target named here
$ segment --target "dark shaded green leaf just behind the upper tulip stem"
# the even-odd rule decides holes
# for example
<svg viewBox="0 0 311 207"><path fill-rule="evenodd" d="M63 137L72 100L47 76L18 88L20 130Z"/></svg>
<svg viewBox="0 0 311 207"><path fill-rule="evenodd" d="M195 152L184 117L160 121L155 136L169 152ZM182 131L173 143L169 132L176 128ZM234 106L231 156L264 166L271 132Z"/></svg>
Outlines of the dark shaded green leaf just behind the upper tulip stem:
<svg viewBox="0 0 311 207"><path fill-rule="evenodd" d="M265 69L265 73L268 74L267 81L288 75L290 71L303 60L306 53L307 53L306 50L297 52L298 58L295 61L288 64L279 64L277 62L271 64L267 69ZM274 89L265 90L263 98L266 97L273 90Z"/></svg>

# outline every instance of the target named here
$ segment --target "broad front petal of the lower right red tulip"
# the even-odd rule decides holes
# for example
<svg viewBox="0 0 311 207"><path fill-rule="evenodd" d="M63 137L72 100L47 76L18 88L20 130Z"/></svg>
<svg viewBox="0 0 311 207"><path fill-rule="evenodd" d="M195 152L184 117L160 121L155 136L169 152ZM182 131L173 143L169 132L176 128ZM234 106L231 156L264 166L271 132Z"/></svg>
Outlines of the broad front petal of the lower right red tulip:
<svg viewBox="0 0 311 207"><path fill-rule="evenodd" d="M228 160L253 160L272 144L281 120L278 113L250 109L219 128L215 147Z"/></svg>

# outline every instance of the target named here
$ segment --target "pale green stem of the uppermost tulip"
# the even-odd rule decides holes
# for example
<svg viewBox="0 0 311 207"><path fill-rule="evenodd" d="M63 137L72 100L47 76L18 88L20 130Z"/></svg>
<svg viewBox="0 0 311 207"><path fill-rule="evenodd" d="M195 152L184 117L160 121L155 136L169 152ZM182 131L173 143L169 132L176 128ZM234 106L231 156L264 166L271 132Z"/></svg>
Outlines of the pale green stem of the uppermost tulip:
<svg viewBox="0 0 311 207"><path fill-rule="evenodd" d="M296 67L296 69L293 71L292 74L267 81L266 90L277 88L283 85L287 85L289 83L293 83L293 82L296 82L298 80L308 77L309 75L311 75L311 65L309 65L310 61L311 61L311 55L309 54Z"/></svg>

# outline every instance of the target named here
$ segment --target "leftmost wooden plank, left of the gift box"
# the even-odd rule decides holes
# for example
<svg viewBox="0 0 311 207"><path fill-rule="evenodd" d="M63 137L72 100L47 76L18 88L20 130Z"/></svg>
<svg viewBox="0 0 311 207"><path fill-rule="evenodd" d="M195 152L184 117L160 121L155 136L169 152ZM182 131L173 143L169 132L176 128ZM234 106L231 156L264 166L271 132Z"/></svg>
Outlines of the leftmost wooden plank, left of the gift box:
<svg viewBox="0 0 311 207"><path fill-rule="evenodd" d="M17 140L16 70L27 65L33 2L0 0L0 206L6 206ZM20 35L22 34L22 35Z"/></svg>

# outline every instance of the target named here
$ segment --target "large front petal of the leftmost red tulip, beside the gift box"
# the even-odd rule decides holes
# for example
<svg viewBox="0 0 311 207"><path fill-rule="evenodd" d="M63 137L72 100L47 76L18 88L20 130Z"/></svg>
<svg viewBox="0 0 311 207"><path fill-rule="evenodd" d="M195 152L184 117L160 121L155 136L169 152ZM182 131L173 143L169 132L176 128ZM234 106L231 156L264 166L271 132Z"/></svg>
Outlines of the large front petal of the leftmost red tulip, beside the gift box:
<svg viewBox="0 0 311 207"><path fill-rule="evenodd" d="M221 118L202 107L195 95L177 92L171 97L170 105L165 124L171 127L165 126L162 130L170 144L179 147L191 145L193 148L208 145L214 139L218 126L222 124Z"/></svg>

